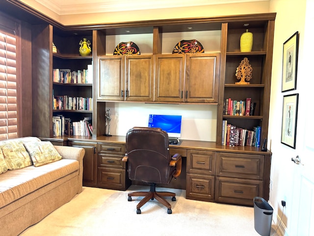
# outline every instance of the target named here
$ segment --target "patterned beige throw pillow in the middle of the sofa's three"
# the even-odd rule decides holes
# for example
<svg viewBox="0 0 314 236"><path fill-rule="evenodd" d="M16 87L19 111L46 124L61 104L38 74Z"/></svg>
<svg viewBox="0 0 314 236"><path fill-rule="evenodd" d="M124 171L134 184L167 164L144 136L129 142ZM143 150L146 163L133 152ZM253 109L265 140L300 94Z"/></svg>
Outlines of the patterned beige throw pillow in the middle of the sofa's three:
<svg viewBox="0 0 314 236"><path fill-rule="evenodd" d="M22 141L3 141L1 149L9 170L18 170L33 164Z"/></svg>

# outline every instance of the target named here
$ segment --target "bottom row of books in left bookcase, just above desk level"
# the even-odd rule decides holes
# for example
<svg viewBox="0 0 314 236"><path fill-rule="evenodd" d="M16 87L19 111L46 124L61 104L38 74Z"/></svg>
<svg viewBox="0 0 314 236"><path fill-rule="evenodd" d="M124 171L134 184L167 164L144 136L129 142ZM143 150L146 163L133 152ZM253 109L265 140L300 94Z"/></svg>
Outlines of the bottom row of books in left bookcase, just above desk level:
<svg viewBox="0 0 314 236"><path fill-rule="evenodd" d="M55 115L52 117L53 136L91 136L93 135L91 119L91 117L85 117L83 120L72 121L71 118L65 118L63 115Z"/></svg>

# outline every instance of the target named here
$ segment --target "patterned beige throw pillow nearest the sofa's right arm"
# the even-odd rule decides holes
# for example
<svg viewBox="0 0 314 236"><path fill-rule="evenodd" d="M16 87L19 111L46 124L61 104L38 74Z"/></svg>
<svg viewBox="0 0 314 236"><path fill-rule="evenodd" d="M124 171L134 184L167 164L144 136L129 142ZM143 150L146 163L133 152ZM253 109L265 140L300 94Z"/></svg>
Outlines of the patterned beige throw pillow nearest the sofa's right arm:
<svg viewBox="0 0 314 236"><path fill-rule="evenodd" d="M26 142L24 146L29 152L35 167L58 161L62 158L50 141Z"/></svg>

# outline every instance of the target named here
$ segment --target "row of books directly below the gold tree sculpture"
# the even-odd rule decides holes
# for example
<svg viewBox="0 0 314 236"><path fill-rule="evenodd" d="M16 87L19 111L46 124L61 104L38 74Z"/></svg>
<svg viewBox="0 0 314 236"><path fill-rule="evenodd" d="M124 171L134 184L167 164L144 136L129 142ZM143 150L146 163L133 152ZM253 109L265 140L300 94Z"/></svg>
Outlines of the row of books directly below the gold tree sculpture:
<svg viewBox="0 0 314 236"><path fill-rule="evenodd" d="M245 101L226 98L224 103L224 114L230 116L254 116L256 102L248 97Z"/></svg>

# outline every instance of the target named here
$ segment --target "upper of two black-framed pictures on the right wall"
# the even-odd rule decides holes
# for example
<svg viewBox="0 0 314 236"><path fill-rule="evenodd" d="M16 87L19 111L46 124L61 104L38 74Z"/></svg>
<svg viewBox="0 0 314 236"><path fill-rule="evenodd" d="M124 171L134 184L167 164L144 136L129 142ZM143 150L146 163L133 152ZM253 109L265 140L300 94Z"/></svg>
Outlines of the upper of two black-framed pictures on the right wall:
<svg viewBox="0 0 314 236"><path fill-rule="evenodd" d="M296 31L285 43L283 52L283 78L281 91L296 89L299 32Z"/></svg>

